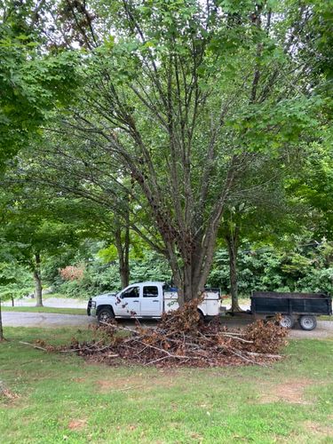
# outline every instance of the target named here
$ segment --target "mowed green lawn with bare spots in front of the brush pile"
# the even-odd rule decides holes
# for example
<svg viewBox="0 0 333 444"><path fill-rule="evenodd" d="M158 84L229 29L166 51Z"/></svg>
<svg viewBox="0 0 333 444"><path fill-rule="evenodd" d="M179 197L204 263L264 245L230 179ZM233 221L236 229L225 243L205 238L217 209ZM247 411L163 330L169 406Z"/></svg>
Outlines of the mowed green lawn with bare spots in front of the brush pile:
<svg viewBox="0 0 333 444"><path fill-rule="evenodd" d="M333 442L333 340L293 340L271 367L111 368L20 340L61 344L77 329L4 330L0 441Z"/></svg>

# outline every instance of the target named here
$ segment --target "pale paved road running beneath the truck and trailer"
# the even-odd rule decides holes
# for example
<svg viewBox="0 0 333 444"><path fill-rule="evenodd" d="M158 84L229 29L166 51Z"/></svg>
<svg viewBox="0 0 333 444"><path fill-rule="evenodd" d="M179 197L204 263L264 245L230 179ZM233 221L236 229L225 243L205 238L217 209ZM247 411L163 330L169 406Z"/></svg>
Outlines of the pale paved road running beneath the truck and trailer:
<svg viewBox="0 0 333 444"><path fill-rule="evenodd" d="M58 313L24 313L24 312L3 312L4 327L84 327L91 323L96 323L95 318L84 316L81 314L58 314ZM249 323L247 319L222 319L228 328L240 328ZM134 326L134 321L121 321L128 327ZM144 325L154 326L155 321L143 321ZM305 331L299 327L290 331L290 337L297 338L333 338L333 321L318 321L317 329L313 331Z"/></svg>

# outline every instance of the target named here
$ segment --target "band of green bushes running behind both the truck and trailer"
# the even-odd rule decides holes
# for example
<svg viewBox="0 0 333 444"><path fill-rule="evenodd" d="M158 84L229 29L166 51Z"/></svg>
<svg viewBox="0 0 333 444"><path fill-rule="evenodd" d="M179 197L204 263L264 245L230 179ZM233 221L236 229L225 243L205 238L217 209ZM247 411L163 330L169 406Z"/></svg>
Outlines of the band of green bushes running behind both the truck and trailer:
<svg viewBox="0 0 333 444"><path fill-rule="evenodd" d="M59 262L50 258L44 268L44 278L49 286L68 297L91 297L121 288L116 261L107 264L96 253L99 243L90 242L81 255L67 257L66 265L85 261L83 279L63 281L59 276ZM91 250L89 250L91 249ZM94 250L95 254L91 254ZM108 249L101 249L102 251ZM62 266L65 264L61 262ZM53 266L53 269L52 269ZM151 250L141 250L131 258L131 282L166 281L171 273L167 261ZM333 294L333 245L325 241L311 242L305 238L285 241L279 248L242 243L237 259L240 296L249 297L252 290L300 291ZM50 270L53 270L50 272ZM47 272L49 270L49 272ZM223 294L230 291L229 258L225 249L215 255L208 285L218 287Z"/></svg>

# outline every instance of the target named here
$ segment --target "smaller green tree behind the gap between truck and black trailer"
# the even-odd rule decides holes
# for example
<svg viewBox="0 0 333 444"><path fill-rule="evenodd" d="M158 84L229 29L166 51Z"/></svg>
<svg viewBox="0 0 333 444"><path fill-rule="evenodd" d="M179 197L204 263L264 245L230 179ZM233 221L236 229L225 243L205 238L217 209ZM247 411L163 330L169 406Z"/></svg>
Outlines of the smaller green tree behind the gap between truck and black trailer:
<svg viewBox="0 0 333 444"><path fill-rule="evenodd" d="M218 237L219 244L221 239L225 241L229 256L232 312L242 311L238 304L237 283L237 255L242 242L279 248L281 239L305 230L304 215L310 206L295 201L295 196L286 191L289 179L295 178L297 173L297 152L282 165L265 159L260 163L258 158L255 168L242 177L240 188L234 191L233 201L226 207Z"/></svg>

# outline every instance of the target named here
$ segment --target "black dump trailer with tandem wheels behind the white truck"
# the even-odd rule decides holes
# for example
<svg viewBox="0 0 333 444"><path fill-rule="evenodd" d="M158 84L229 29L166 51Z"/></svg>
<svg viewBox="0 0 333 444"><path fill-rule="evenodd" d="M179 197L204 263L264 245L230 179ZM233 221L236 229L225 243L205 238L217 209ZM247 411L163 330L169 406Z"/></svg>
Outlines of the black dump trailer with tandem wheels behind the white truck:
<svg viewBox="0 0 333 444"><path fill-rule="evenodd" d="M251 313L263 317L281 313L281 325L292 329L298 321L302 329L313 330L316 316L332 314L332 298L322 293L278 293L253 291Z"/></svg>

